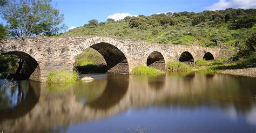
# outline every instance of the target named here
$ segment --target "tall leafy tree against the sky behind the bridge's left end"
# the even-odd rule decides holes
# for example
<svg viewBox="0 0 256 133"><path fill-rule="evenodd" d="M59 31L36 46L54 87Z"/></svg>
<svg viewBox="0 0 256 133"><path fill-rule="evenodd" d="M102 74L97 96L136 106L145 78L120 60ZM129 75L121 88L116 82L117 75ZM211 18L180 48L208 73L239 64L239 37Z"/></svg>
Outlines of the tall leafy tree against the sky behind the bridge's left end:
<svg viewBox="0 0 256 133"><path fill-rule="evenodd" d="M1 6L2 17L12 37L56 35L66 28L59 26L63 14L54 9L51 0L9 0Z"/></svg>

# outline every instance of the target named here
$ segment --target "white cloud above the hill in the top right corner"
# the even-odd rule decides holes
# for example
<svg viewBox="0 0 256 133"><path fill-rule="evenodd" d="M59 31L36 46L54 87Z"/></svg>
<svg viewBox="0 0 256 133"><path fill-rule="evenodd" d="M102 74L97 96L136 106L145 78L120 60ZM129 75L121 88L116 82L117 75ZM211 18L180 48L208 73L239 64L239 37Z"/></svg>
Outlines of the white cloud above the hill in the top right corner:
<svg viewBox="0 0 256 133"><path fill-rule="evenodd" d="M207 10L225 10L227 8L234 9L256 9L255 0L220 0L211 6L206 7Z"/></svg>

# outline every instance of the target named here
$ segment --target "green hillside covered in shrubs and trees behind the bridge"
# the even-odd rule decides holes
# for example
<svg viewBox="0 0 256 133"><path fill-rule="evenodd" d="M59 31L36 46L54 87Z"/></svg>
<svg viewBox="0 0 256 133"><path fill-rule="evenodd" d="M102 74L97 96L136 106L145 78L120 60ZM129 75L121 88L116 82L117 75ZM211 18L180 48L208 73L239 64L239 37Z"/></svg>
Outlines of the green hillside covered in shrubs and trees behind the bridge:
<svg viewBox="0 0 256 133"><path fill-rule="evenodd" d="M178 12L139 15L123 20L88 24L61 36L100 35L165 44L233 46L244 42L256 31L256 9L226 9L221 11Z"/></svg>

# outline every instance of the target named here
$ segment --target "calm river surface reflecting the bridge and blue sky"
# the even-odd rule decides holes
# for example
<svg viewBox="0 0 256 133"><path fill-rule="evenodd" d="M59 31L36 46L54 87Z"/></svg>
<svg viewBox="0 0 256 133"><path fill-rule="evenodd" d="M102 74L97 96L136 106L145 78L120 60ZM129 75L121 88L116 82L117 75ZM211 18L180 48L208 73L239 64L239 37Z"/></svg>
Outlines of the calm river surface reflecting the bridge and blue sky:
<svg viewBox="0 0 256 133"><path fill-rule="evenodd" d="M72 85L0 80L0 132L256 132L256 78L90 76Z"/></svg>

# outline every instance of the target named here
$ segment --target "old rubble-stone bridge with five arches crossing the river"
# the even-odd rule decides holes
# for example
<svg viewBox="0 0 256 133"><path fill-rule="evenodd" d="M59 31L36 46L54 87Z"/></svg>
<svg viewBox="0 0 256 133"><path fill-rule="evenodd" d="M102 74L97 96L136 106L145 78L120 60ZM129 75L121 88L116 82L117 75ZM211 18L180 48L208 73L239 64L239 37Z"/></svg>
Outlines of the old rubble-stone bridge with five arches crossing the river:
<svg viewBox="0 0 256 133"><path fill-rule="evenodd" d="M13 54L23 58L30 79L46 82L50 71L73 71L76 56L89 47L102 54L107 72L110 73L130 73L139 65L164 70L170 61L213 60L227 54L218 47L160 45L100 36L79 36L1 40L0 55Z"/></svg>

